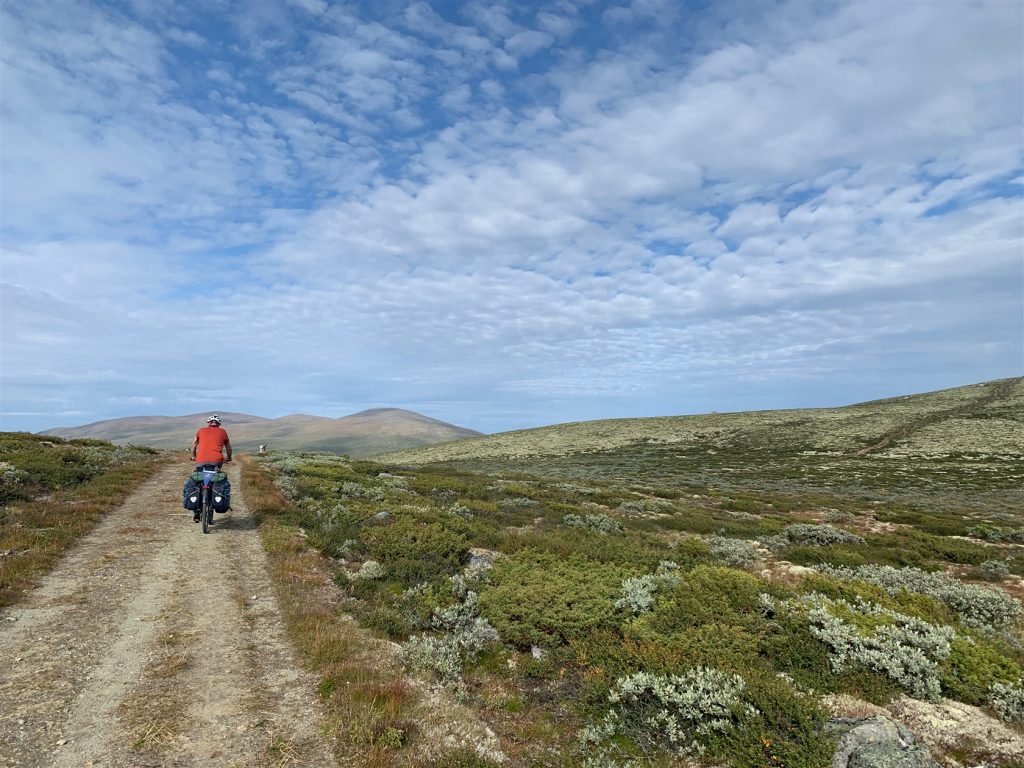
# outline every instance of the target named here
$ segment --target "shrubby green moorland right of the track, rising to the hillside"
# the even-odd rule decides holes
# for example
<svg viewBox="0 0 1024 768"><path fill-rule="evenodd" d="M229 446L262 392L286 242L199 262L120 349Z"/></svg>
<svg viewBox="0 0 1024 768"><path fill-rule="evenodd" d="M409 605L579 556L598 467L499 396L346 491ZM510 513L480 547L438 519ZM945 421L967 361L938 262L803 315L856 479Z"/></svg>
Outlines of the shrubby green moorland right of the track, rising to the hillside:
<svg viewBox="0 0 1024 768"><path fill-rule="evenodd" d="M318 557L287 578L337 586L307 600L299 643L329 710L351 707L348 646L329 635L352 614L471 708L505 765L821 768L840 700L963 702L1020 733L1022 422L1013 379L376 462L272 454L250 483L275 496L273 546ZM369 703L357 731L336 717L341 742L365 764L423 764L415 696L359 674ZM936 751L944 765L1024 765L970 730Z"/></svg>

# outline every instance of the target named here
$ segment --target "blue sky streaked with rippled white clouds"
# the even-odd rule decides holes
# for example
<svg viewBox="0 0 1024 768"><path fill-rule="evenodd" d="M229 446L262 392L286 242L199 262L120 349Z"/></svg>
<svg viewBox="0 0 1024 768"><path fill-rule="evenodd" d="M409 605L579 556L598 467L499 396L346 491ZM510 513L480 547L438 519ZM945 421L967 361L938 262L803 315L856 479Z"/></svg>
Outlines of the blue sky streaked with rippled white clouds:
<svg viewBox="0 0 1024 768"><path fill-rule="evenodd" d="M1019 2L0 14L4 429L1024 373Z"/></svg>

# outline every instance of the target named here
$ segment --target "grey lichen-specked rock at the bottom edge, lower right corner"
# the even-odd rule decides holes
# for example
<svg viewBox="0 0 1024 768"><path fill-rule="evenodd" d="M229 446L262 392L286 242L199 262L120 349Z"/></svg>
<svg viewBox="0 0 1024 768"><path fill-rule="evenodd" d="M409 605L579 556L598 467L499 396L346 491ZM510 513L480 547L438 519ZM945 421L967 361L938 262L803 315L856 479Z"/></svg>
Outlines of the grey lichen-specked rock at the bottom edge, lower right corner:
<svg viewBox="0 0 1024 768"><path fill-rule="evenodd" d="M906 726L887 717L836 718L839 735L831 768L939 768Z"/></svg>

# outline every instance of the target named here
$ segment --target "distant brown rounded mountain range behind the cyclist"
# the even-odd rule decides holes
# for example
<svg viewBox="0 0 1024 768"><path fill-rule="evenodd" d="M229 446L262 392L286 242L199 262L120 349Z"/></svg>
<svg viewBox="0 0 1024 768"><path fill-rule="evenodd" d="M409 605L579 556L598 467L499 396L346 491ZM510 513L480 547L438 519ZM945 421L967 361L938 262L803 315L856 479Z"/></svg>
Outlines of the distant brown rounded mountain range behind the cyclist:
<svg viewBox="0 0 1024 768"><path fill-rule="evenodd" d="M204 426L209 415L203 412L188 416L133 416L82 427L48 429L43 434L184 451L191 445L196 430ZM256 451L266 443L271 450L332 451L359 457L480 435L475 430L398 408L377 408L340 419L306 414L280 419L224 412L219 416L236 451Z"/></svg>

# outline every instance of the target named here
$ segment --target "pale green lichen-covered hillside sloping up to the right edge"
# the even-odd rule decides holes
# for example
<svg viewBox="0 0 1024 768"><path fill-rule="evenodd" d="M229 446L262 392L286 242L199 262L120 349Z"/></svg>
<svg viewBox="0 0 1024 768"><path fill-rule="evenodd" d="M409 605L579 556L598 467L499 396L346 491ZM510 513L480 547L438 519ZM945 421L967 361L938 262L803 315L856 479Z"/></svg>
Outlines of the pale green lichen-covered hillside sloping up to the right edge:
<svg viewBox="0 0 1024 768"><path fill-rule="evenodd" d="M952 492L1005 504L1022 500L1024 379L845 408L558 424L375 458L663 485Z"/></svg>

